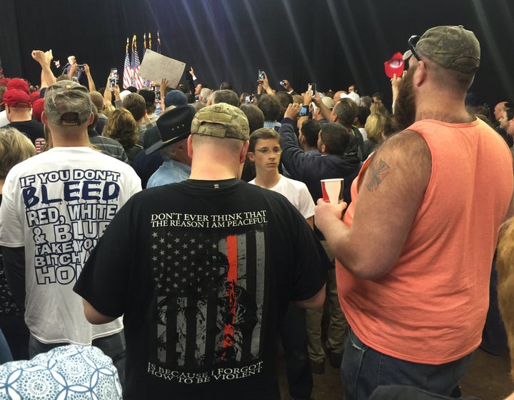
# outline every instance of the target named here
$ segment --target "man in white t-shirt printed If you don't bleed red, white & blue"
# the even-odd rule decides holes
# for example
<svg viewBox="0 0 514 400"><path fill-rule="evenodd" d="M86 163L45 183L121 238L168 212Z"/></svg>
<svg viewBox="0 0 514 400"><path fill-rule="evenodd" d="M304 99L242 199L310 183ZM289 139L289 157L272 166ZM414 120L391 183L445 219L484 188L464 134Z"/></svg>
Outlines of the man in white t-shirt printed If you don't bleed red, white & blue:
<svg viewBox="0 0 514 400"><path fill-rule="evenodd" d="M141 190L141 180L128 164L91 148L91 104L88 90L72 81L47 89L41 120L53 147L7 175L0 246L13 295L26 306L30 356L64 344L93 344L111 356L123 381L121 319L89 324L72 288L114 214Z"/></svg>

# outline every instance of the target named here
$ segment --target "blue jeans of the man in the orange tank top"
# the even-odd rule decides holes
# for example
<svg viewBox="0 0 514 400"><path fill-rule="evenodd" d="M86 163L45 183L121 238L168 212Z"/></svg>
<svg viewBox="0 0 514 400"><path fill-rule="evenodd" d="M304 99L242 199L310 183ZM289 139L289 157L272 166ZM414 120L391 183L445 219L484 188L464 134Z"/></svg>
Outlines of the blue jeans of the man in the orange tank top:
<svg viewBox="0 0 514 400"><path fill-rule="evenodd" d="M366 346L350 330L341 364L346 400L366 400L382 385L408 385L449 396L468 370L471 354L447 364L396 359Z"/></svg>

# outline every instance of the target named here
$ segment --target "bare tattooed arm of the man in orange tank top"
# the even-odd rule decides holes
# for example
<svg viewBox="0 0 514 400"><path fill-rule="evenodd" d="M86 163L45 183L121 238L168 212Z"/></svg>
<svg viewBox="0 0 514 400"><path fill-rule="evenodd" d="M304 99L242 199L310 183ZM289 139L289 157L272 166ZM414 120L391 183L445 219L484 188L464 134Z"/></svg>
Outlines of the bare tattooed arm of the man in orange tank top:
<svg viewBox="0 0 514 400"><path fill-rule="evenodd" d="M381 146L361 179L353 224L339 218L344 205L318 200L316 226L336 258L363 279L378 279L400 256L432 170L430 150L414 131Z"/></svg>

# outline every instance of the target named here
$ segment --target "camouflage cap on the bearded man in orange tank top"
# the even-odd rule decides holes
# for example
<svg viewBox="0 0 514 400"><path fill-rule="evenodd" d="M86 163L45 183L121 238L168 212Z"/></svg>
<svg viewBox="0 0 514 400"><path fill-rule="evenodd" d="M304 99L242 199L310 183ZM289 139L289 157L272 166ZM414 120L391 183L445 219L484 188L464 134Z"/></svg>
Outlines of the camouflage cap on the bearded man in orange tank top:
<svg viewBox="0 0 514 400"><path fill-rule="evenodd" d="M480 66L480 43L472 31L458 26L435 26L428 29L415 44L415 51L445 69L474 74ZM403 59L412 56L405 51Z"/></svg>

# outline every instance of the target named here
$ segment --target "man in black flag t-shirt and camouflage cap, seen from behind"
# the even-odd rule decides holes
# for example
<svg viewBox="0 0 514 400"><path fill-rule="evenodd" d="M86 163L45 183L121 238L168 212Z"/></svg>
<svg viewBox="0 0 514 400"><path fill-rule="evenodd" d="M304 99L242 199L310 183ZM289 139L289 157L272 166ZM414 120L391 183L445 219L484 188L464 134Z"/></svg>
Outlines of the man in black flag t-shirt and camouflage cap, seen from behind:
<svg viewBox="0 0 514 400"><path fill-rule="evenodd" d="M280 399L278 321L323 304L329 261L285 197L239 180L248 134L235 106L198 111L191 178L133 196L74 287L92 324L124 315L125 399Z"/></svg>

